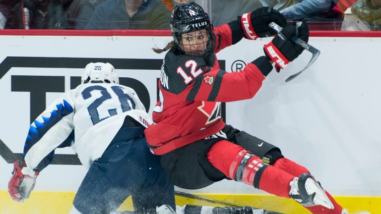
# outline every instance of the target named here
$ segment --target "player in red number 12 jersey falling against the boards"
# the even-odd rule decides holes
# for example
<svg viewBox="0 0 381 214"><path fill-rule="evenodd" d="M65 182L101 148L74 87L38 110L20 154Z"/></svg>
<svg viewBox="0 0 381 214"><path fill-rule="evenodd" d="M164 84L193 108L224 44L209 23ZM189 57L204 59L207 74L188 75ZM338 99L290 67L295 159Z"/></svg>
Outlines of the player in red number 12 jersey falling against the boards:
<svg viewBox="0 0 381 214"><path fill-rule="evenodd" d="M283 27L275 35L268 24ZM324 191L305 167L284 158L279 148L224 123L221 102L251 99L273 69L284 68L303 48L293 36L308 42L305 22L287 25L276 10L262 7L237 21L213 28L208 14L194 2L172 12L174 41L167 51L159 82L160 100L154 124L145 131L150 150L181 188L199 189L224 178L292 198L315 214L341 214L342 207ZM264 56L242 70L226 72L216 53L242 38L275 35ZM343 212L344 213L344 212Z"/></svg>

